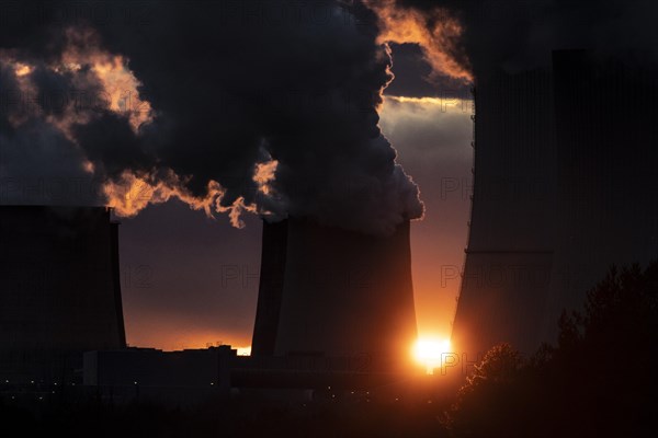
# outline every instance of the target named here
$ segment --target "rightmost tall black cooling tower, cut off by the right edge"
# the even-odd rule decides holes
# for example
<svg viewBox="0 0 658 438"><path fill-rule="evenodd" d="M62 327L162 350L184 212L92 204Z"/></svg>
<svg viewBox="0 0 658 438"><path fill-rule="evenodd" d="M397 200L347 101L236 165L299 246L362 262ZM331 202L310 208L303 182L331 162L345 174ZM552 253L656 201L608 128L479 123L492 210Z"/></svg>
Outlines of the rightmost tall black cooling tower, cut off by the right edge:
<svg viewBox="0 0 658 438"><path fill-rule="evenodd" d="M611 264L658 257L658 67L642 59L553 54L560 211L553 336L561 309L580 308Z"/></svg>

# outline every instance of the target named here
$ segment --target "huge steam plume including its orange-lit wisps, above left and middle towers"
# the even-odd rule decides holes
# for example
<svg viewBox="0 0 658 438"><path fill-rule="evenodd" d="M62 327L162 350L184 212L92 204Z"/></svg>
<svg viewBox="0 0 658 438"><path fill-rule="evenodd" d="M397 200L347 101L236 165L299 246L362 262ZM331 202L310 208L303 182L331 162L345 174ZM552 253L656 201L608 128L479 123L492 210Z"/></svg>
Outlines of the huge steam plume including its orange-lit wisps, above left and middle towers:
<svg viewBox="0 0 658 438"><path fill-rule="evenodd" d="M235 227L252 212L390 233L422 217L378 127L393 79L385 43L418 43L436 71L467 80L450 54L458 23L438 15L423 30L390 2L326 2L319 15L261 7L292 12L279 23L238 10L218 23L222 2L162 3L145 26L4 28L14 34L0 46L0 177L100 182L95 201L120 216L175 197ZM5 192L1 203L44 203Z"/></svg>

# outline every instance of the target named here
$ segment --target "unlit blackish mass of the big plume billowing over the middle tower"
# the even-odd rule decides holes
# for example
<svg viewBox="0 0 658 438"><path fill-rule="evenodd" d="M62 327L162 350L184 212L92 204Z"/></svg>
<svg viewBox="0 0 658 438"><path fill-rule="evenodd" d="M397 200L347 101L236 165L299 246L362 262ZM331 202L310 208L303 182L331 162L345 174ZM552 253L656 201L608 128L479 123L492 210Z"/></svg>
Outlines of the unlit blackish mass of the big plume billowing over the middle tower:
<svg viewBox="0 0 658 438"><path fill-rule="evenodd" d="M390 232L405 217L422 215L417 186L395 163L396 152L377 126L390 58L375 42L372 13L359 3L2 7L3 21L14 23L0 27L5 57L52 65L70 48L66 32L72 28L82 34L78 50L120 55L141 82L139 97L150 103L152 117L137 131L129 114L102 104L48 110L39 103L27 117L68 120L63 141L78 152L71 163L81 168L75 159L83 157L101 180L120 182L129 171L151 183L180 184L177 189L196 199L215 181L225 189L222 207L242 198L261 212L372 232ZM102 103L90 68L34 69L29 77L39 89L82 89ZM10 116L0 117L2 135L15 130ZM33 165L11 159L22 169ZM279 166L264 195L253 174L270 159ZM164 176L167 170L178 182Z"/></svg>

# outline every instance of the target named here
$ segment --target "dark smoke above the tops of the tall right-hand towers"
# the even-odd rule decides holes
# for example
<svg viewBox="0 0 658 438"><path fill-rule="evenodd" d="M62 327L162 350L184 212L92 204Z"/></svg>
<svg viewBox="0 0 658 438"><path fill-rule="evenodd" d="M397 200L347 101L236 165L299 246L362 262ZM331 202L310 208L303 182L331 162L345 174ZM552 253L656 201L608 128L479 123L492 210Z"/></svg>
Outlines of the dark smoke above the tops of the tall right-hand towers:
<svg viewBox="0 0 658 438"><path fill-rule="evenodd" d="M657 60L658 3L650 0L397 0L424 11L449 9L464 25L461 62L475 76L549 65L554 49L590 49L600 56ZM633 55L628 55L633 53ZM458 55L458 54L457 54Z"/></svg>

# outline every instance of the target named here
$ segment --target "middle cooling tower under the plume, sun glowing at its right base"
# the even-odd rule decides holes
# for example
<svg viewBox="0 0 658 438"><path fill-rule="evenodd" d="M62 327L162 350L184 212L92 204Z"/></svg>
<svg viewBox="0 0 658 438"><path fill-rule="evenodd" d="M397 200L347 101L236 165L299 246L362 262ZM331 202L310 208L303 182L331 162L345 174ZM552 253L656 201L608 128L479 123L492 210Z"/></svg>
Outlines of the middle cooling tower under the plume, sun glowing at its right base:
<svg viewBox="0 0 658 438"><path fill-rule="evenodd" d="M277 319L277 356L363 355L382 367L408 362L417 336L409 221L386 238L299 218L286 226L283 288L265 289L268 281L261 279L254 350L269 351L272 337L259 328L273 326ZM279 229L279 238L269 239L271 227L265 223L263 243L280 244L283 232ZM263 246L263 258L273 253ZM277 264L265 262L263 266ZM265 314L275 310L261 309L276 303L279 293L279 315L270 319Z"/></svg>

